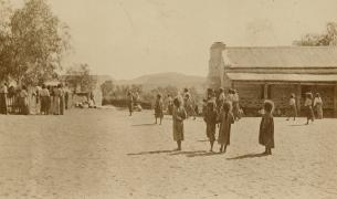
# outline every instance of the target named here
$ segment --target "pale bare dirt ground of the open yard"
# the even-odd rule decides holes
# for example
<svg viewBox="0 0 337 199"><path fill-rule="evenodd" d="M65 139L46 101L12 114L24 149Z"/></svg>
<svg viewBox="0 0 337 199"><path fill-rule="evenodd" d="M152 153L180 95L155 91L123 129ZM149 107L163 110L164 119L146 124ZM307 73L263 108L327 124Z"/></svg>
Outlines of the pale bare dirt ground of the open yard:
<svg viewBox="0 0 337 199"><path fill-rule="evenodd" d="M170 117L127 114L0 115L0 198L337 198L337 119L275 118L276 148L261 156L260 118L235 123L220 155L201 118L172 151Z"/></svg>

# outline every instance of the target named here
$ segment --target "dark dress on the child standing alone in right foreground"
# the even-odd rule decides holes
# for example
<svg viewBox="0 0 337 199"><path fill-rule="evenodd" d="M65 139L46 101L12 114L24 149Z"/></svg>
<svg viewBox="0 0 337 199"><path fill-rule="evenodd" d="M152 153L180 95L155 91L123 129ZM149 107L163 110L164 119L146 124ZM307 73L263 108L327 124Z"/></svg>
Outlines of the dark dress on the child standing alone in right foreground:
<svg viewBox="0 0 337 199"><path fill-rule="evenodd" d="M271 114L264 114L260 124L259 143L267 148L274 148L274 118Z"/></svg>

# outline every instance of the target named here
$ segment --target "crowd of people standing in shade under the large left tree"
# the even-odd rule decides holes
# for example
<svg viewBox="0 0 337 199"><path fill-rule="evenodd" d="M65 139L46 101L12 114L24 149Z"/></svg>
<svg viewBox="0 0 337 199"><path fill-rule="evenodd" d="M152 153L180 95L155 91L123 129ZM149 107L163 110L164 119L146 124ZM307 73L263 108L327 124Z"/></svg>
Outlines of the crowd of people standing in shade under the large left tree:
<svg viewBox="0 0 337 199"><path fill-rule="evenodd" d="M32 92L34 104L40 107L36 114L41 115L63 115L64 109L69 108L70 93L63 87L62 84L57 86L36 87ZM0 113L9 114L9 112L21 115L29 115L29 91L27 86L14 87L3 83L0 87Z"/></svg>

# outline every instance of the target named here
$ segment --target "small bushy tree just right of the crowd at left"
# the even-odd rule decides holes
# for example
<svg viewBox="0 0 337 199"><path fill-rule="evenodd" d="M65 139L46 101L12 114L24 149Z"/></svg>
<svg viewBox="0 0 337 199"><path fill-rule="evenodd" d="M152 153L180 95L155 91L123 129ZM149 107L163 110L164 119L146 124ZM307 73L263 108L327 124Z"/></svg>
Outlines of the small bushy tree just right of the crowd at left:
<svg viewBox="0 0 337 199"><path fill-rule="evenodd" d="M92 92L97 84L97 80L91 75L87 64L70 67L65 75L65 82L72 87L80 87L81 92Z"/></svg>

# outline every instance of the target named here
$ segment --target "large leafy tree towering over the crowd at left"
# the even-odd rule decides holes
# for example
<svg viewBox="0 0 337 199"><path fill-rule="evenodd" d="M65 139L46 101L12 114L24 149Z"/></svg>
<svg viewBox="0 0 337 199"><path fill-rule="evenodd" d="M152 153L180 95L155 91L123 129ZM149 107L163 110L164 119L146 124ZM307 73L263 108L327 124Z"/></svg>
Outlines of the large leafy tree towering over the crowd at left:
<svg viewBox="0 0 337 199"><path fill-rule="evenodd" d="M70 49L69 28L53 14L45 0L28 0L14 10L6 48L8 73L20 84L38 84L56 76Z"/></svg>

